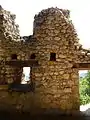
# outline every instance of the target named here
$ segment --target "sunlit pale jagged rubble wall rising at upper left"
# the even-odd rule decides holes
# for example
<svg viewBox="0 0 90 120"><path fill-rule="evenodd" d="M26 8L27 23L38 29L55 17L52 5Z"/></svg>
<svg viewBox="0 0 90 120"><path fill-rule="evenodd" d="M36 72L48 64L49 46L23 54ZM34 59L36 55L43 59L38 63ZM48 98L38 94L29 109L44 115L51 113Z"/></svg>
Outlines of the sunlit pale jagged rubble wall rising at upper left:
<svg viewBox="0 0 90 120"><path fill-rule="evenodd" d="M15 24L16 16L0 6L0 40L20 40L18 25ZM3 39L4 40L4 39Z"/></svg>

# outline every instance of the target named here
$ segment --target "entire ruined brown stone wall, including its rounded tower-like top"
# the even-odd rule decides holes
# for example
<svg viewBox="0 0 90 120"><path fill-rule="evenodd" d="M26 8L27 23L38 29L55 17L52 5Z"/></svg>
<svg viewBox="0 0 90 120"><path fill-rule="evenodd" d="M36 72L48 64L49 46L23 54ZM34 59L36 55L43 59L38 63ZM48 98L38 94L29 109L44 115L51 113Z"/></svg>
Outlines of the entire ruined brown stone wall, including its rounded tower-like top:
<svg viewBox="0 0 90 120"><path fill-rule="evenodd" d="M33 35L20 37L15 15L0 6L0 86L20 84L23 67L6 65L30 60L35 54L38 66L31 67L34 92L0 91L0 108L23 111L32 109L79 110L79 73L73 67L90 63L90 50L82 48L70 20L70 11L59 8L42 10L34 17ZM11 94L12 93L12 94Z"/></svg>

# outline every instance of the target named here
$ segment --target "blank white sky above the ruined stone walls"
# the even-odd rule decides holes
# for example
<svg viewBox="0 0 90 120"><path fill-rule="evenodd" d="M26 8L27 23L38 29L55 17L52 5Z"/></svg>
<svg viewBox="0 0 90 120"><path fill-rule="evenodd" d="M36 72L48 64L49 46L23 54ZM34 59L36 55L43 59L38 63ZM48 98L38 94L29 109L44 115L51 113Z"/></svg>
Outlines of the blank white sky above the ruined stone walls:
<svg viewBox="0 0 90 120"><path fill-rule="evenodd" d="M21 36L32 34L34 15L42 9L52 6L70 9L80 42L90 48L90 0L0 0L0 4L16 14Z"/></svg>

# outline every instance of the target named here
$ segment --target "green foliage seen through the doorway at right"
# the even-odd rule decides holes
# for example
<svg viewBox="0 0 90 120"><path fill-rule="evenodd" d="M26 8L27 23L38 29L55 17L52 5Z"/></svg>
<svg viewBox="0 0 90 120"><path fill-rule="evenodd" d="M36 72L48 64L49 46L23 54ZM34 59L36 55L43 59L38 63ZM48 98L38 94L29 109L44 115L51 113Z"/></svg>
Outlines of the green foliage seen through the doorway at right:
<svg viewBox="0 0 90 120"><path fill-rule="evenodd" d="M85 77L80 77L79 82L80 104L90 103L90 71L87 72Z"/></svg>

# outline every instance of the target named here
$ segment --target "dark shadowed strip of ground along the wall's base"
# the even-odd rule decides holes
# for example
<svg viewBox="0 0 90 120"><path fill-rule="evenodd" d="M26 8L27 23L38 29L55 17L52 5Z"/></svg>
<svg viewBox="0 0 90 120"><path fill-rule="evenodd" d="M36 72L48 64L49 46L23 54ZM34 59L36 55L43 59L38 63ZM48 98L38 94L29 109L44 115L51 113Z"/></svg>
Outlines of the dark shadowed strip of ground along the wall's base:
<svg viewBox="0 0 90 120"><path fill-rule="evenodd" d="M60 112L58 110L47 110L44 112L40 112L38 114L32 114L30 112L20 112L20 111L15 111L15 110L2 110L0 111L0 117L2 119L7 119L7 120L90 120L90 117L84 116L82 112L78 114L68 114L64 112Z"/></svg>

